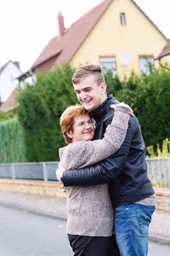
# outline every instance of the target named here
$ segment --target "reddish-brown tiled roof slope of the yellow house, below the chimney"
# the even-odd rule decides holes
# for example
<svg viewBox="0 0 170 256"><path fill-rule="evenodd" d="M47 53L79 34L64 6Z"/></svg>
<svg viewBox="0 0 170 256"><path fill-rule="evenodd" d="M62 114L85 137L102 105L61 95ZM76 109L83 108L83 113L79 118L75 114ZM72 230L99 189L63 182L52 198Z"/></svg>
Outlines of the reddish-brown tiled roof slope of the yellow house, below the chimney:
<svg viewBox="0 0 170 256"><path fill-rule="evenodd" d="M70 28L65 30L65 34L60 39L59 36L52 38L32 67L41 68L47 61L53 62L52 64L54 65L62 65L65 62L71 61L77 49L82 45L111 2L112 0L105 0L99 3L94 9L83 15ZM54 65L50 67L53 68Z"/></svg>

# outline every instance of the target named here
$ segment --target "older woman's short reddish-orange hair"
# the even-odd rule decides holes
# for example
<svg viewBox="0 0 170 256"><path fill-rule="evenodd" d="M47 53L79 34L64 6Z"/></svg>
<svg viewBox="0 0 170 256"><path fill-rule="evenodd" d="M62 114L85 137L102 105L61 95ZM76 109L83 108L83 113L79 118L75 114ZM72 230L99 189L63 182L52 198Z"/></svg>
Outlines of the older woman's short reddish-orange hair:
<svg viewBox="0 0 170 256"><path fill-rule="evenodd" d="M59 119L59 125L61 127L61 131L63 137L65 138L65 143L72 143L71 138L66 135L68 131L72 131L74 125L74 119L82 114L88 113L82 105L70 106L65 109L65 111L61 114Z"/></svg>

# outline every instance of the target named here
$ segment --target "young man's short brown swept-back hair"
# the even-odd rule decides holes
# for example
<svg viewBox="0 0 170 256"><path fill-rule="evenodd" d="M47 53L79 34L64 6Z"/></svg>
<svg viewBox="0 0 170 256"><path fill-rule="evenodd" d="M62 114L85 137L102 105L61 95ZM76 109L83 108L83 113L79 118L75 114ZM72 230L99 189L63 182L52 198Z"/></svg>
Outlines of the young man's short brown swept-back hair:
<svg viewBox="0 0 170 256"><path fill-rule="evenodd" d="M105 83L105 77L102 68L99 65L86 64L77 68L72 76L72 83L77 84L88 76L93 75L95 82L99 85Z"/></svg>

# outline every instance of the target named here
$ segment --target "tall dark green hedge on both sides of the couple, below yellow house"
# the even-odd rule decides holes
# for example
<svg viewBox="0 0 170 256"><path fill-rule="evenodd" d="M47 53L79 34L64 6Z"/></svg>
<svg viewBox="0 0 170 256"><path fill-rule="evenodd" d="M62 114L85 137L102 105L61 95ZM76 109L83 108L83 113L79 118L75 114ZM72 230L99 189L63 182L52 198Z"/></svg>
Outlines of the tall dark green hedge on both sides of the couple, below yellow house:
<svg viewBox="0 0 170 256"><path fill-rule="evenodd" d="M37 84L20 91L18 115L24 127L26 158L29 161L57 160L58 148L65 145L59 117L77 102L68 65L51 73L37 74ZM132 108L143 131L146 146L170 137L170 70L152 69L150 75L132 73L127 79L105 75L108 93Z"/></svg>

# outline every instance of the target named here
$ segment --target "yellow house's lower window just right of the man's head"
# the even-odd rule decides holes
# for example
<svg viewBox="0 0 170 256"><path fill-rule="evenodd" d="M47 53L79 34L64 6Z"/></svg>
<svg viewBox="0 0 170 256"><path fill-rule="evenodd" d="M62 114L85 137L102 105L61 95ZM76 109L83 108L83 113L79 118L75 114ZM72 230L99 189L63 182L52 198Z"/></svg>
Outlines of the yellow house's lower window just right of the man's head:
<svg viewBox="0 0 170 256"><path fill-rule="evenodd" d="M116 75L116 59L115 56L99 57L99 63L104 70L104 73L111 71L113 75Z"/></svg>

